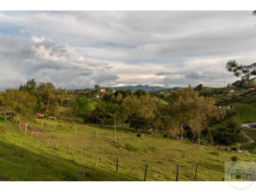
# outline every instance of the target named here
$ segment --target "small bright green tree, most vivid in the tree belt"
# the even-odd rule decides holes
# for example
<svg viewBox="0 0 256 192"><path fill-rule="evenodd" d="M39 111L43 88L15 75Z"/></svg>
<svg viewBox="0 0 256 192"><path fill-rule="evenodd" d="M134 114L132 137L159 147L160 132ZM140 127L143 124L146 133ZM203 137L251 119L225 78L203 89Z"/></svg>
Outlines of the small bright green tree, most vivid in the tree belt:
<svg viewBox="0 0 256 192"><path fill-rule="evenodd" d="M83 118L84 122L90 117L91 110L92 105L87 97L81 97L78 99L76 106L77 115Z"/></svg>

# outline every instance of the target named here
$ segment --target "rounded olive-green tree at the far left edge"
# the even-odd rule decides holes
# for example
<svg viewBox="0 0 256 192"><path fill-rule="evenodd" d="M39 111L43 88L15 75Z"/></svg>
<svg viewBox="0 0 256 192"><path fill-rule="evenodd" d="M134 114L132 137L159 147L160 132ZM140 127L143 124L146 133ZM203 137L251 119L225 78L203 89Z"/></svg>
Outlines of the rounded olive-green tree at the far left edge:
<svg viewBox="0 0 256 192"><path fill-rule="evenodd" d="M36 106L36 98L27 92L17 89L7 89L0 98L1 110L4 114L11 114L12 117L20 115L21 117L31 118Z"/></svg>

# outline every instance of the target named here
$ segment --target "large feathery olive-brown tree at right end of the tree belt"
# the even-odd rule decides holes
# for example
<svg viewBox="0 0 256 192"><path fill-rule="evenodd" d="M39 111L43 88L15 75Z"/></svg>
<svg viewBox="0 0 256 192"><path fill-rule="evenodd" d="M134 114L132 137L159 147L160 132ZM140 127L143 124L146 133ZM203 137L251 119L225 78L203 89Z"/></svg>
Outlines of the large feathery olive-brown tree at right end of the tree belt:
<svg viewBox="0 0 256 192"><path fill-rule="evenodd" d="M163 113L168 122L169 132L173 137L183 139L184 129L190 127L197 135L200 145L201 131L207 127L212 118L223 117L225 111L214 106L213 98L199 97L199 93L190 86L187 89L176 90L167 98L169 105L164 107Z"/></svg>

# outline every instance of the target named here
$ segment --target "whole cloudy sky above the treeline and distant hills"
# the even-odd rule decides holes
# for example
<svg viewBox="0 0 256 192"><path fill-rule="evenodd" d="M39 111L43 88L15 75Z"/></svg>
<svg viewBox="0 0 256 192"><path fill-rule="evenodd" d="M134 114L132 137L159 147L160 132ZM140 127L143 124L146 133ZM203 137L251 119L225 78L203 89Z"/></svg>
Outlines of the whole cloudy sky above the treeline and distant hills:
<svg viewBox="0 0 256 192"><path fill-rule="evenodd" d="M255 25L252 11L0 11L0 90L223 87L239 79L227 61L255 62Z"/></svg>

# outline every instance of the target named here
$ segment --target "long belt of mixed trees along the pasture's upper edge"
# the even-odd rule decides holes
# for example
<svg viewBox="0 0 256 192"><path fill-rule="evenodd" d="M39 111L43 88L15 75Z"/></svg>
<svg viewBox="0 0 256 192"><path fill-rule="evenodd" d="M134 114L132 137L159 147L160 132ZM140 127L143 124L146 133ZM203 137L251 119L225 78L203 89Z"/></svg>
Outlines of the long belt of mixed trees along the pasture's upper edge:
<svg viewBox="0 0 256 192"><path fill-rule="evenodd" d="M52 83L37 84L31 79L19 89L7 89L0 94L1 111L11 117L32 118L42 113L46 117L98 125L114 125L116 119L117 125L179 140L187 137L198 144L201 138L212 140L207 124L225 115L214 106L213 98L199 95L190 86L167 92L164 97L151 96L143 90L107 91L97 98L92 97L95 93L98 92L90 89L56 89Z"/></svg>

